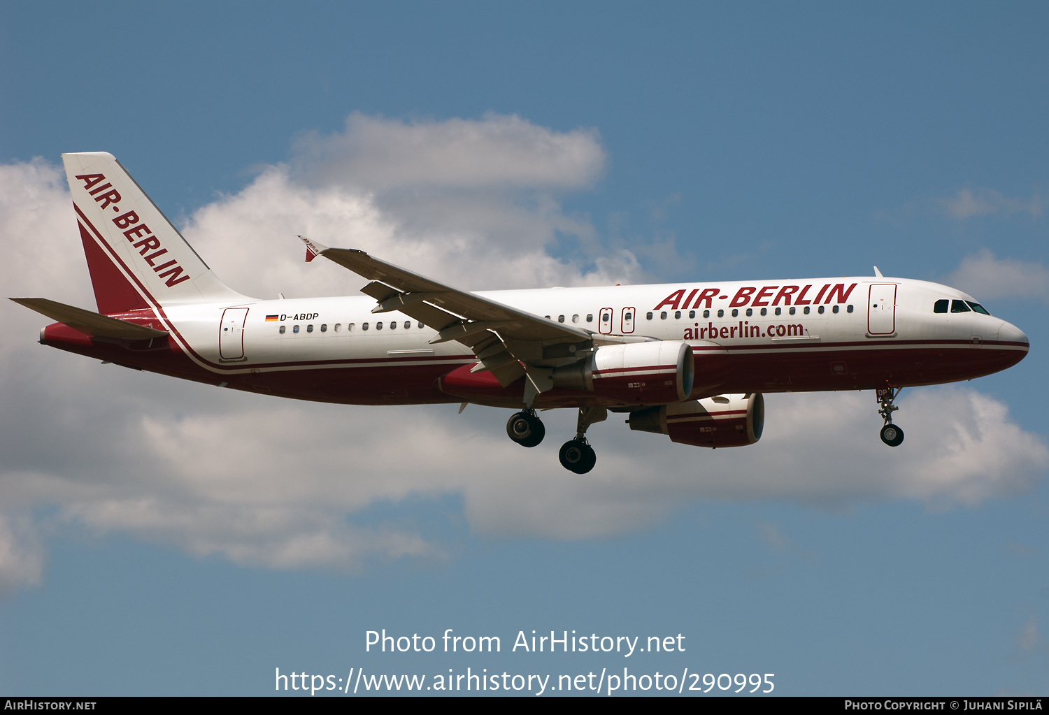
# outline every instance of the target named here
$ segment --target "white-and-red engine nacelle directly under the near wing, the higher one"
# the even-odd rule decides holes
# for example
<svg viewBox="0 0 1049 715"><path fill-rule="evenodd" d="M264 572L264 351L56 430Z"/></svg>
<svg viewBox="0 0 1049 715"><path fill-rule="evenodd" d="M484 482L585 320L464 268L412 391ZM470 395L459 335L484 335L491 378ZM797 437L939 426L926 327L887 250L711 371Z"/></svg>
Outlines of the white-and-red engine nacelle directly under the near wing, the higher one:
<svg viewBox="0 0 1049 715"><path fill-rule="evenodd" d="M621 403L661 405L692 391L692 348L680 340L603 345L590 359L554 370L554 387L587 390Z"/></svg>

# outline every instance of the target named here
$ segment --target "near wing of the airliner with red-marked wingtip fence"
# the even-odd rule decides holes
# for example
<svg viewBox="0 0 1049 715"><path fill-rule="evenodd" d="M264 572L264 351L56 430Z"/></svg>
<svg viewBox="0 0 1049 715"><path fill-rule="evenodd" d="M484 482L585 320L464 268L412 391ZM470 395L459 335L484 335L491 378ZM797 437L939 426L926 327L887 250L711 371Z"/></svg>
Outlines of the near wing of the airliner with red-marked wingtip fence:
<svg viewBox="0 0 1049 715"><path fill-rule="evenodd" d="M363 251L329 248L299 238L307 255L323 256L371 281L361 291L379 301L372 312L398 310L411 316L437 331L431 344L454 340L466 345L477 355L473 371L491 370L504 387L527 374L526 404L529 386L536 393L545 392L550 389L545 373L578 362L598 339L590 330L445 285Z"/></svg>

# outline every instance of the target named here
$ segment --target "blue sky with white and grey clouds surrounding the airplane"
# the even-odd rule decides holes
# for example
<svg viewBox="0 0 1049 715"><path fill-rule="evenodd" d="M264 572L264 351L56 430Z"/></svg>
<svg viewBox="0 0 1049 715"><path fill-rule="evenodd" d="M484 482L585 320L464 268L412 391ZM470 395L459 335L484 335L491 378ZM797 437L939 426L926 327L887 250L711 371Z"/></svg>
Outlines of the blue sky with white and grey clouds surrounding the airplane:
<svg viewBox="0 0 1049 715"><path fill-rule="evenodd" d="M7 297L94 308L60 154L107 151L257 298L364 284L303 263L298 234L475 290L877 265L1031 341L1005 372L904 390L895 450L870 392L768 394L754 446L612 416L573 475L569 411L522 450L507 410L100 365L5 301L0 691L345 697L469 668L531 696L597 694L590 673L601 695L628 674L734 695L723 673L1046 694L1047 22L1035 2L0 4ZM383 630L433 650L382 652ZM599 649L534 652L532 631ZM278 690L292 673L321 679Z"/></svg>

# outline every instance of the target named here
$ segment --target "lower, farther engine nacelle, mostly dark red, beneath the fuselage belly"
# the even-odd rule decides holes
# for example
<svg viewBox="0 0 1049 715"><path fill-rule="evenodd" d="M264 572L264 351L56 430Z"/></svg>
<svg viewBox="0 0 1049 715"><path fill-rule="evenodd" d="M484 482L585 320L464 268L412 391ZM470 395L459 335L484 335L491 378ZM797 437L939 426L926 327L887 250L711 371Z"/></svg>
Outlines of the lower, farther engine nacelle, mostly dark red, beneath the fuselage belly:
<svg viewBox="0 0 1049 715"><path fill-rule="evenodd" d="M761 392L718 395L649 407L630 413L631 430L670 436L693 447L744 447L762 438L765 398Z"/></svg>

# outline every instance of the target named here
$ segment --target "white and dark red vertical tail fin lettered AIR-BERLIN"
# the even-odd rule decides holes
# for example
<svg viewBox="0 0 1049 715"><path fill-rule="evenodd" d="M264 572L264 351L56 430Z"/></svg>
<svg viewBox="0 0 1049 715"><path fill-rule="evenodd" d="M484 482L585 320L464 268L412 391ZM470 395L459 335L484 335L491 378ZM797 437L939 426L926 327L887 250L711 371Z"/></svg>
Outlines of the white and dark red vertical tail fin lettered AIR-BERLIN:
<svg viewBox="0 0 1049 715"><path fill-rule="evenodd" d="M241 302L112 154L63 154L99 312Z"/></svg>

